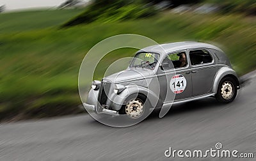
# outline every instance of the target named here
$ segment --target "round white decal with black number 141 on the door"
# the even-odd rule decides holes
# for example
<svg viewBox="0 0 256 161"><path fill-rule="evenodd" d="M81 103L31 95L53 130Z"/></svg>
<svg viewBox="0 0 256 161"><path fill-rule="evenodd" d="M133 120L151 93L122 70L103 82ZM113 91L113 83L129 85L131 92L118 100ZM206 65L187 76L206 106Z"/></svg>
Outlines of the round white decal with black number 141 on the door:
<svg viewBox="0 0 256 161"><path fill-rule="evenodd" d="M183 75L174 75L170 81L170 88L173 93L182 93L187 86L186 78Z"/></svg>

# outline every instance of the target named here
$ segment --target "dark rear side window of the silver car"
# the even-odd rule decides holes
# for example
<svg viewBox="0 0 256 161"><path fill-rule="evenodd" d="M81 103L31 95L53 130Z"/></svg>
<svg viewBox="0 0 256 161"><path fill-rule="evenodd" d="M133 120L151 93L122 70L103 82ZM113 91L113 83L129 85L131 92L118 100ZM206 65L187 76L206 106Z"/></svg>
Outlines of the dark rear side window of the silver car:
<svg viewBox="0 0 256 161"><path fill-rule="evenodd" d="M189 51L191 65L202 65L212 62L212 56L207 50L191 50Z"/></svg>

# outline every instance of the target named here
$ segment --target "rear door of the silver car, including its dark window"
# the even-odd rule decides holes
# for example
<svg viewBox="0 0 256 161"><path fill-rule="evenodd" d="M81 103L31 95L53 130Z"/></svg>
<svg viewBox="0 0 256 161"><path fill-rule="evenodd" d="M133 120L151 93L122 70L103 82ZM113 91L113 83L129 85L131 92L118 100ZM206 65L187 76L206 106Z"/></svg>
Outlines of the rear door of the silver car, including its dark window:
<svg viewBox="0 0 256 161"><path fill-rule="evenodd" d="M214 56L207 49L189 49L191 63L192 96L209 94L216 75Z"/></svg>

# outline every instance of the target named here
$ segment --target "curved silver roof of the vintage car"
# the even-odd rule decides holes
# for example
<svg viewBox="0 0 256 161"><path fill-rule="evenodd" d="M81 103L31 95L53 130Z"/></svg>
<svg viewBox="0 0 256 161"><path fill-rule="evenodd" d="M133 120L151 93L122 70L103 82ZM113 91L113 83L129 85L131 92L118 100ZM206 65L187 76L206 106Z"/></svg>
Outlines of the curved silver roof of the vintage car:
<svg viewBox="0 0 256 161"><path fill-rule="evenodd" d="M193 48L211 48L222 51L220 48L211 45L209 43L202 42L175 42L175 43L164 43L159 45L154 45L150 47L145 47L144 49L139 50L138 52L156 52L159 54L166 54L170 52L174 52L177 50L184 49L193 49Z"/></svg>

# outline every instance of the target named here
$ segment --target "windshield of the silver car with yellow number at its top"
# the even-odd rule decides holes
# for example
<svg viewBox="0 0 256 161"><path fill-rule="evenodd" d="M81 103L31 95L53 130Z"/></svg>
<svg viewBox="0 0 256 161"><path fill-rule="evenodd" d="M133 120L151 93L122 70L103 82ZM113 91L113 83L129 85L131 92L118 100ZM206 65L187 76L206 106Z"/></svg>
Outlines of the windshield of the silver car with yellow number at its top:
<svg viewBox="0 0 256 161"><path fill-rule="evenodd" d="M156 63L159 59L159 54L150 53L150 52L139 52L136 54L131 62L130 68L141 67L141 68L149 68L154 70Z"/></svg>

